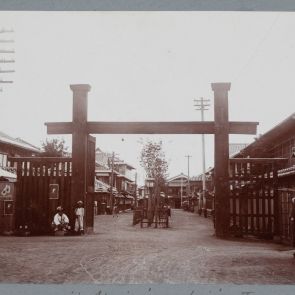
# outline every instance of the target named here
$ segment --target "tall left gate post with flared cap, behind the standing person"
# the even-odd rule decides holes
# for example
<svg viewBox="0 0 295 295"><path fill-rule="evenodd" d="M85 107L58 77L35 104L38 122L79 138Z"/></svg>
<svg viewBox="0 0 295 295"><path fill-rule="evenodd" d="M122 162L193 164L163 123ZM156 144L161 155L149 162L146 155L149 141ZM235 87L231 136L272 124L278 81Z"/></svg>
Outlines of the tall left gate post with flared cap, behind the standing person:
<svg viewBox="0 0 295 295"><path fill-rule="evenodd" d="M86 204L87 191L87 94L90 85L71 85L73 91L73 138L72 138L72 189L71 221L74 222L74 207L81 200Z"/></svg>

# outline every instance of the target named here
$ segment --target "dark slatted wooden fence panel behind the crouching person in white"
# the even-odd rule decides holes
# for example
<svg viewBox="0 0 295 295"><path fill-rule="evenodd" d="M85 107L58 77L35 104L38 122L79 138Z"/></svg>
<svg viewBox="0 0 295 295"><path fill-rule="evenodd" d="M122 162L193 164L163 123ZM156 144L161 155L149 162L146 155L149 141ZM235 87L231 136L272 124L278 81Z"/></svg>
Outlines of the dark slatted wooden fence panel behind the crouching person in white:
<svg viewBox="0 0 295 295"><path fill-rule="evenodd" d="M46 233L61 205L71 215L71 158L13 158L17 162L16 228Z"/></svg>

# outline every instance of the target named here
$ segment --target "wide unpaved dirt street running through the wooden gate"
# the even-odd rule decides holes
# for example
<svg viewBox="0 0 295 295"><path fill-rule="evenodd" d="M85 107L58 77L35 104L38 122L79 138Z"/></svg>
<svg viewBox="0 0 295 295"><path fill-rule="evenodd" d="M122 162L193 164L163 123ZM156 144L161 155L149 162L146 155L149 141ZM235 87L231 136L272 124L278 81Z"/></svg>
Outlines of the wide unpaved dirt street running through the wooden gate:
<svg viewBox="0 0 295 295"><path fill-rule="evenodd" d="M173 210L169 229L132 226L132 213L95 217L95 234L0 237L2 283L295 284L288 247L220 240L212 221Z"/></svg>

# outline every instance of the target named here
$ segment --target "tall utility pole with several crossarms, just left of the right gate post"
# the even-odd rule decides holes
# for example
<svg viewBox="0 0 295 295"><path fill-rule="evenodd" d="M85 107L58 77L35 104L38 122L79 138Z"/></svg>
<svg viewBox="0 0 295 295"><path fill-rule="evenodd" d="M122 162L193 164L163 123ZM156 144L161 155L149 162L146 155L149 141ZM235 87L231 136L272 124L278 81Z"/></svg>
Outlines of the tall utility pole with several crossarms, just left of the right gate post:
<svg viewBox="0 0 295 295"><path fill-rule="evenodd" d="M201 97L200 99L195 99L195 107L197 111L201 111L201 121L204 121L204 111L207 111L210 106L209 99L204 99ZM203 177L202 177L202 204L205 201L205 194L206 194L206 155L205 155L205 134L202 134L202 159L203 159ZM199 210L202 210L202 207L199 207ZM202 212L202 211L201 211ZM199 211L199 213L201 213Z"/></svg>

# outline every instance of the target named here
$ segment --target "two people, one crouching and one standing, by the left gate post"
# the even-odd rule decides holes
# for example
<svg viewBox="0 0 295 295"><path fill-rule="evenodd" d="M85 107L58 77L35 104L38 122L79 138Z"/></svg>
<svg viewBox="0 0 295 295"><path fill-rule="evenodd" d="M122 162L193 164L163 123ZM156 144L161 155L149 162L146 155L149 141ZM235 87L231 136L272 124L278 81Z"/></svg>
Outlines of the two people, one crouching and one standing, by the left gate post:
<svg viewBox="0 0 295 295"><path fill-rule="evenodd" d="M58 206L57 213L53 217L52 227L56 231L69 231L71 229L68 216L63 212L63 208ZM78 201L75 208L75 232L84 234L84 207L83 202Z"/></svg>

